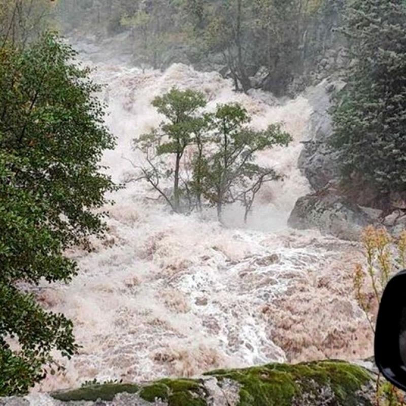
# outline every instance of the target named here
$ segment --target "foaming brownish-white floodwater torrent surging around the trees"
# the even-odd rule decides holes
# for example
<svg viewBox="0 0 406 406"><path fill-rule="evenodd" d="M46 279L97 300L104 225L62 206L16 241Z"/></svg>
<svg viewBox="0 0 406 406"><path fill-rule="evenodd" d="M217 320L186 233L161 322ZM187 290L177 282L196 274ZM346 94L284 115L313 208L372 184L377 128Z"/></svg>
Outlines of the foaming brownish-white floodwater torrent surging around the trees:
<svg viewBox="0 0 406 406"><path fill-rule="evenodd" d="M37 390L78 386L86 380L143 381L195 376L218 367L270 361L360 358L371 355L371 335L352 295L357 244L298 232L286 221L309 192L297 168L312 109L304 96L282 103L268 93L234 93L217 73L183 64L166 72L99 63L106 84L107 125L117 137L103 164L116 182L142 159L131 141L162 117L152 99L173 86L202 91L208 109L238 101L252 126L283 121L294 141L258 157L286 175L267 184L246 227L238 206L225 214L170 214L143 182L112 196L109 232L94 250L69 253L80 274L69 285L43 285L38 299L75 324L79 354L58 358L63 374Z"/></svg>

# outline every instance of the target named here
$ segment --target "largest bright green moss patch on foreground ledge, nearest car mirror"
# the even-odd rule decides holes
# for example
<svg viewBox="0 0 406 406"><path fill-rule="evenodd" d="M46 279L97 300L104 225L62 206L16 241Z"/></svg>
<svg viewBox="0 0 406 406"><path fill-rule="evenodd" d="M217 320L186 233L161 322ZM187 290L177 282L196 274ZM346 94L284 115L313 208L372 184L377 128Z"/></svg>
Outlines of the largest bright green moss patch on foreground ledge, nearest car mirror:
<svg viewBox="0 0 406 406"><path fill-rule="evenodd" d="M337 404L357 406L357 392L371 377L362 368L340 361L298 365L269 364L242 370L218 370L208 375L241 385L239 406L290 406L305 394L317 398L330 388Z"/></svg>

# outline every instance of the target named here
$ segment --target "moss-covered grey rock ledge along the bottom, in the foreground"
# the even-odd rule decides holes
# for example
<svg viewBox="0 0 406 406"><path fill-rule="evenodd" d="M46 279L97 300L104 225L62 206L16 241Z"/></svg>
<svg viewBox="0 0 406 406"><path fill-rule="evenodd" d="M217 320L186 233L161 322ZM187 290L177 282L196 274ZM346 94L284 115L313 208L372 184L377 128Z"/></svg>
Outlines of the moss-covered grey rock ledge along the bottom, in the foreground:
<svg viewBox="0 0 406 406"><path fill-rule="evenodd" d="M372 405L374 377L341 361L224 369L200 379L86 386L0 399L2 406L358 406Z"/></svg>

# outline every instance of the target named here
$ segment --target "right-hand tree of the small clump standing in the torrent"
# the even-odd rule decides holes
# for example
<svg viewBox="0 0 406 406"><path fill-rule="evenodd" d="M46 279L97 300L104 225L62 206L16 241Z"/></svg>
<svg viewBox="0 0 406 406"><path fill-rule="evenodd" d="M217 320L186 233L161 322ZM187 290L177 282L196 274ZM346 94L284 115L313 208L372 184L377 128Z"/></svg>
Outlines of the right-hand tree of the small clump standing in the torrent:
<svg viewBox="0 0 406 406"><path fill-rule="evenodd" d="M220 221L224 205L242 201L250 211L257 187L281 177L272 168L255 164L255 156L276 145L287 146L291 136L282 130L281 124L255 131L248 126L250 121L239 104L220 105L213 116L214 151L208 158L204 195L217 208Z"/></svg>

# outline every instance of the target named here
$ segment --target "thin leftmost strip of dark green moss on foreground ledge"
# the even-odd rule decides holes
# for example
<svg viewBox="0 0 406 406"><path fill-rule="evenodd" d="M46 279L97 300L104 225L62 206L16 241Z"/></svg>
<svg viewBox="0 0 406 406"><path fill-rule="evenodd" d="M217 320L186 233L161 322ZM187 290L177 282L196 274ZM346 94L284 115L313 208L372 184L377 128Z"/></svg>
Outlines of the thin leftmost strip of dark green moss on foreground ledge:
<svg viewBox="0 0 406 406"><path fill-rule="evenodd" d="M134 384L89 385L71 391L54 392L51 396L62 401L96 401L97 399L111 401L118 393L137 393L139 390L140 387Z"/></svg>

